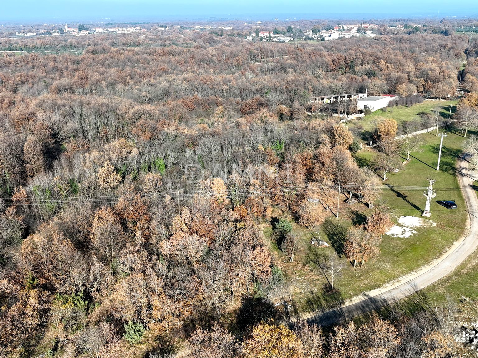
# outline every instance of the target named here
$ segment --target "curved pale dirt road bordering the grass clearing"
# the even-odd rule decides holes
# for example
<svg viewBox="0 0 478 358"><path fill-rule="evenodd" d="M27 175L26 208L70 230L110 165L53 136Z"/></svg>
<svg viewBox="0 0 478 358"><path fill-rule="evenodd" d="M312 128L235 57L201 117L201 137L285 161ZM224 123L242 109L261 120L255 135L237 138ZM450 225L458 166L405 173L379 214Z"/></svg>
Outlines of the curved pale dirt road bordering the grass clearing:
<svg viewBox="0 0 478 358"><path fill-rule="evenodd" d="M326 312L311 312L302 318L309 323L316 323L320 326L330 326L341 320L349 320L367 312L378 309L395 300L411 295L416 291L433 284L445 275L452 272L468 255L478 246L478 198L473 189L473 181L478 179L476 173L468 169L468 163L464 159L458 162L458 183L461 187L467 212L469 214L469 231L461 241L456 242L453 247L445 253L438 262L422 269L416 276L408 281L399 283L391 288L384 288L375 295L363 295L359 302L343 305L337 309Z"/></svg>

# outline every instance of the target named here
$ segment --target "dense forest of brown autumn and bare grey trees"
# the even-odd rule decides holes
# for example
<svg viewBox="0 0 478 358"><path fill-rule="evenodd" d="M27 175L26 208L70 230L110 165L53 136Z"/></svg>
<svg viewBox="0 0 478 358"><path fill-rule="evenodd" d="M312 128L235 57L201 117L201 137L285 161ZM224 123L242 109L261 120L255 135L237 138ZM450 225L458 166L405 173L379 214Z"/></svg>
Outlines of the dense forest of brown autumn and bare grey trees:
<svg viewBox="0 0 478 358"><path fill-rule="evenodd" d="M140 342L149 357L269 357L270 337L274 357L451 357L450 307L330 337L268 321L291 313L271 305L285 278L263 225L282 211L312 227L324 210L311 201L327 208L339 181L369 204L380 195L351 154L356 133L310 97L442 98L463 62L476 92L466 34L272 43L172 30L0 48L0 357L48 337L49 357L139 357ZM382 126L387 143L397 127ZM287 223L275 225L292 262Z"/></svg>

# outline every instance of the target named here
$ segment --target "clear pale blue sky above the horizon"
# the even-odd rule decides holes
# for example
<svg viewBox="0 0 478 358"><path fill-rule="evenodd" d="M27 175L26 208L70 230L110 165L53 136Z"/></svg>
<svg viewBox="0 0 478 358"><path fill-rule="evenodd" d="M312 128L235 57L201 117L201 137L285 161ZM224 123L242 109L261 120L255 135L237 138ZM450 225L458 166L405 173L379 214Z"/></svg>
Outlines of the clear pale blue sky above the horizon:
<svg viewBox="0 0 478 358"><path fill-rule="evenodd" d="M478 16L478 0L2 0L0 22ZM457 6L459 5L459 6Z"/></svg>

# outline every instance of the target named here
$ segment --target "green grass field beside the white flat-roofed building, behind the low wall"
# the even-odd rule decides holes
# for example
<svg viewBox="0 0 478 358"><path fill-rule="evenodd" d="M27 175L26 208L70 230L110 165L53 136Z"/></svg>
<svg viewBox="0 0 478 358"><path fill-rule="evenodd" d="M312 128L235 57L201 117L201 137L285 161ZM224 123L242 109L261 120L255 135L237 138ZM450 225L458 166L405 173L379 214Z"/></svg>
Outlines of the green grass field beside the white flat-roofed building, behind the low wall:
<svg viewBox="0 0 478 358"><path fill-rule="evenodd" d="M431 112L435 107L441 108L441 116L448 117L450 111L450 105L452 114L456 110L457 101L424 101L423 103L412 105L410 107L400 105L397 107L386 107L386 112L378 110L368 116L364 116L361 119L353 120L347 123L347 126L352 128L358 128L364 131L371 131L373 129L375 120L377 117L393 118L397 121L398 125L407 121L412 121L418 118L418 114L422 112Z"/></svg>

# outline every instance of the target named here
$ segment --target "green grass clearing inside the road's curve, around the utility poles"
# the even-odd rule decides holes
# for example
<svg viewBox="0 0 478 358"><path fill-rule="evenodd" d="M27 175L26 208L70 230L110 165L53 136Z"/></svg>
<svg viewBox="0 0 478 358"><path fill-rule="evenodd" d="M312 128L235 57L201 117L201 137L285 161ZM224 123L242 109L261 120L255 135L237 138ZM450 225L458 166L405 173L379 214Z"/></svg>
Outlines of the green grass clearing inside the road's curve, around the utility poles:
<svg viewBox="0 0 478 358"><path fill-rule="evenodd" d="M421 111L423 106L420 106ZM435 137L432 133L421 136L425 141L423 152L412 153L412 160L398 173L388 174L389 179L384 182L382 198L376 205L388 208L395 221L400 216L406 215L421 217L425 205L422 189L396 191L387 186L426 187L428 186L427 178L436 179L434 189L437 195L432 201L430 218L436 226L416 228L414 230L417 234L410 238L384 235L380 245L380 255L365 263L364 267L353 269L347 259L343 258L346 267L342 277L337 278L337 291L324 292L326 279L314 264L315 258L323 254L331 254L334 250L340 252L341 242L352 222L356 224L363 222L367 214L373 211L360 203L347 205L344 202L346 196L341 194L340 219L330 213L330 217L322 225L321 237L331 244L330 247L311 248L309 242L312 234L299 225L294 225L294 232L301 238L301 248L295 262L288 263L285 255L277 247L273 248L291 283L291 294L297 302L299 311L337 305L343 299L380 287L408 274L438 258L463 234L467 216L463 197L458 188L455 166L456 159L461 154L464 138L458 133L448 133L443 143L440 171L437 172L439 137ZM373 150L364 149L357 154L356 159L362 166L370 165L374 156ZM447 210L438 205L435 200L456 200L458 209ZM336 208L333 210L335 212ZM270 233L271 229L267 227L266 236L270 236Z"/></svg>

